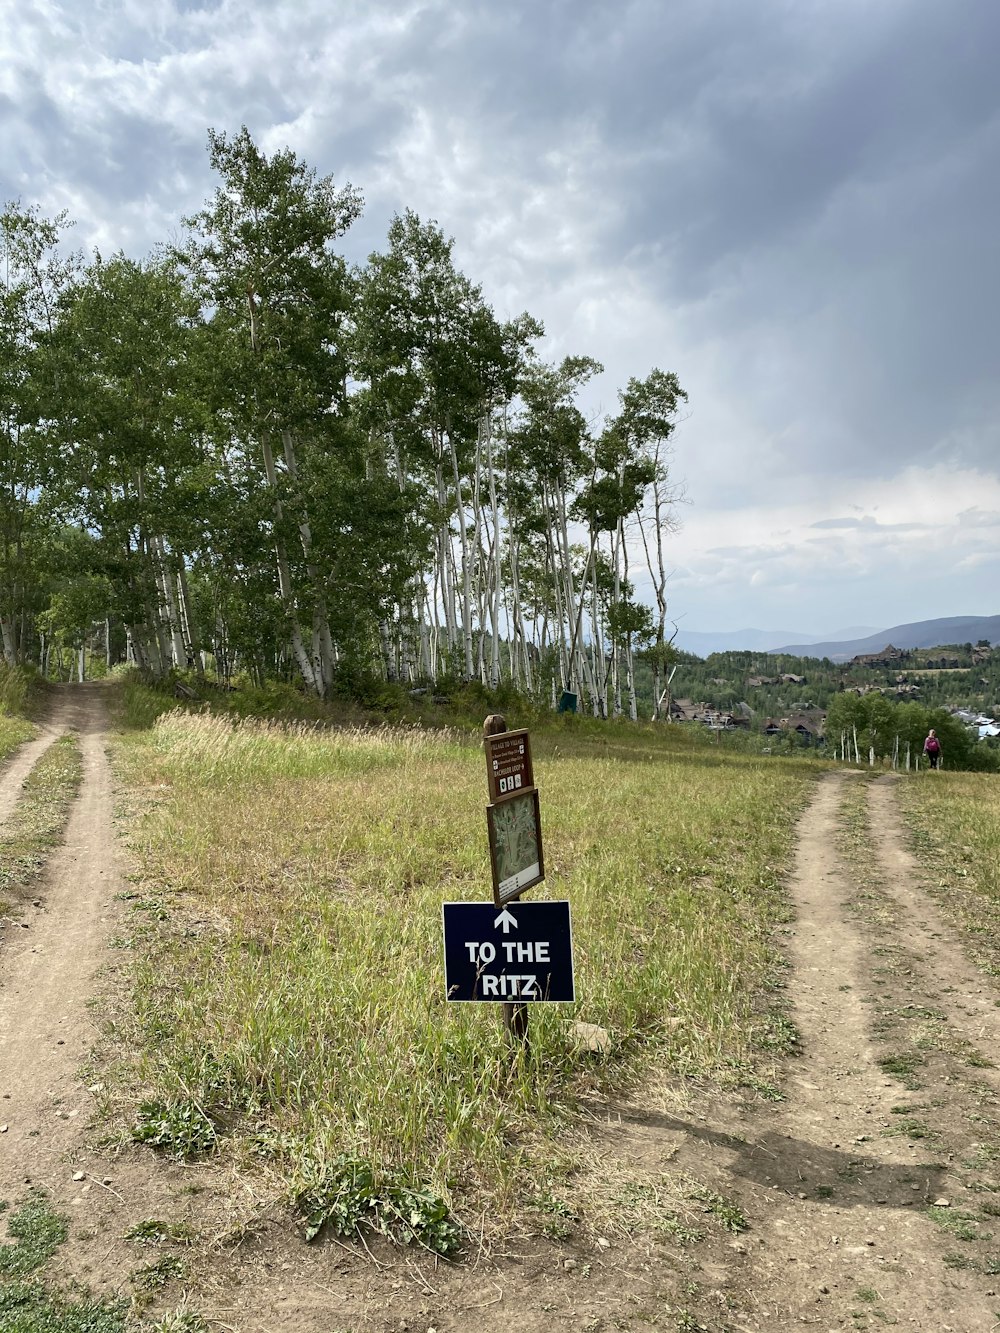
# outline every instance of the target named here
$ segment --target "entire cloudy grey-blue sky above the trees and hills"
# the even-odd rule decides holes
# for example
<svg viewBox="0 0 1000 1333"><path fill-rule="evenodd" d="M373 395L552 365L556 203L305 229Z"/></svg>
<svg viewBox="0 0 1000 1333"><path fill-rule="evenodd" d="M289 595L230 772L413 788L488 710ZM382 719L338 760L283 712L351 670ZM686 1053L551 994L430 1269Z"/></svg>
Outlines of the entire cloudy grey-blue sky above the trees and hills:
<svg viewBox="0 0 1000 1333"><path fill-rule="evenodd" d="M688 393L684 631L1000 613L996 0L0 0L0 203L143 256L245 124ZM643 588L640 585L640 593Z"/></svg>

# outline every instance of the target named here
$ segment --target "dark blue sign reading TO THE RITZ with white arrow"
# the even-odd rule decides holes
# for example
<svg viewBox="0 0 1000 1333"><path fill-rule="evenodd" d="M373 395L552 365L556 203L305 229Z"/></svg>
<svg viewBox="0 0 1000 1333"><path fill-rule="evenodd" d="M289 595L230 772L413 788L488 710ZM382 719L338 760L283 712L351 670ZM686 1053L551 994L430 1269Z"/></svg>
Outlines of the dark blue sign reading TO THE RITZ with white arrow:
<svg viewBox="0 0 1000 1333"><path fill-rule="evenodd" d="M448 1000L573 1000L568 902L443 902Z"/></svg>

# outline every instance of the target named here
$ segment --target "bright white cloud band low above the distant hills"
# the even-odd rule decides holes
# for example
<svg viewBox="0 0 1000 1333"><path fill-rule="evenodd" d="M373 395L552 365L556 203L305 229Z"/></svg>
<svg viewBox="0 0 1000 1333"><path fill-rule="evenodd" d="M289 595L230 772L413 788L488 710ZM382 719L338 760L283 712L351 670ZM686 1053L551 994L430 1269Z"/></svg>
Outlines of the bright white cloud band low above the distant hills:
<svg viewBox="0 0 1000 1333"><path fill-rule="evenodd" d="M968 521L968 501L979 501ZM859 504L859 519L836 519ZM808 503L699 511L671 539L673 609L709 629L733 624L893 624L936 615L995 613L991 565L1000 547L1000 479L907 468L888 483L831 480ZM943 600L943 589L947 589Z"/></svg>

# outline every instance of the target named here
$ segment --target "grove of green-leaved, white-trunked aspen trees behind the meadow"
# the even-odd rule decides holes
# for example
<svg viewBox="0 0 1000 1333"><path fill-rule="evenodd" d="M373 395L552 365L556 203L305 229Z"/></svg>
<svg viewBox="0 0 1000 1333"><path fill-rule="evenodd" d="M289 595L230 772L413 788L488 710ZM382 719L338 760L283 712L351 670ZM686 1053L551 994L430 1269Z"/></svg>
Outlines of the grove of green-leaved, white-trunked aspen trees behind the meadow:
<svg viewBox="0 0 1000 1333"><path fill-rule="evenodd" d="M0 217L0 633L8 664L509 682L636 716L663 693L676 375L547 364L407 212L352 268L351 187L244 128L144 260ZM636 599L640 568L653 605Z"/></svg>

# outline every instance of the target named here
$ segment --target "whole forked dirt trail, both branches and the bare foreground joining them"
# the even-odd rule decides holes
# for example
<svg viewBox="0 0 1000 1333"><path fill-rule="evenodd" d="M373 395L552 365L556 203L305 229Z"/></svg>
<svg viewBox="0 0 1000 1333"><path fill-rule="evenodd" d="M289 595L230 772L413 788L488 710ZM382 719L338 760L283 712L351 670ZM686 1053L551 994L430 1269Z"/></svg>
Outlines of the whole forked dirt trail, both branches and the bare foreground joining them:
<svg viewBox="0 0 1000 1333"><path fill-rule="evenodd" d="M80 794L45 873L43 908L29 930L0 944L0 1125L8 1125L0 1198L19 1197L31 1181L72 1214L64 1276L103 1296L128 1290L128 1270L143 1257L123 1238L128 1225L189 1218L211 1237L228 1220L239 1224L236 1244L192 1252L184 1285L213 1328L239 1333L1000 1328L1000 1278L991 1276L1000 1260L991 1269L976 1252L975 1264L947 1262L961 1241L928 1213L947 1198L957 1216L960 1204L975 1206L976 1189L1000 1192L1000 1182L973 1180L964 1165L997 1118L1000 1074L973 1058L1000 1037L997 994L920 888L892 782L832 773L801 820L785 952L803 1053L788 1061L785 1100L704 1102L673 1085L605 1108L607 1124L593 1128L589 1156L601 1170L617 1161L653 1186L679 1174L705 1182L740 1205L745 1234L707 1226L709 1237L691 1248L641 1232L612 1233L611 1242L525 1237L491 1261L441 1266L384 1250L373 1265L343 1246L305 1249L280 1209L255 1212L211 1166L95 1146L88 1126L97 1084L81 1073L97 1038L88 1000L112 957L121 886L99 690L64 696L44 736L0 777L0 813L68 725L80 732ZM841 846L843 802L861 790L877 880L865 893L860 862ZM927 1054L919 1041L905 1045L923 1041L924 1029L936 1042ZM897 1065L900 1052L916 1052L920 1089L884 1072L880 1061L892 1052ZM916 1114L915 1097L929 1137L897 1132L900 1104ZM84 1178L75 1181L79 1172ZM161 1308L180 1296L167 1290Z"/></svg>

